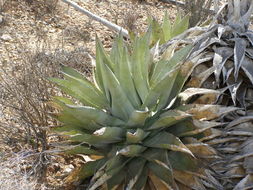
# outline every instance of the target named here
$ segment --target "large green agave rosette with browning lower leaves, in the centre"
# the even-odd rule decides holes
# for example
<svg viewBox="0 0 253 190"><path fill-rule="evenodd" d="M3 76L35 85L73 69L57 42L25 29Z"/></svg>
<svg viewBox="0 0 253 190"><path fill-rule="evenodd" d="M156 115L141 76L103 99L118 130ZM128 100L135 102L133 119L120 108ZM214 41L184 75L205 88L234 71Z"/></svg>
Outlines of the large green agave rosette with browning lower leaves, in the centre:
<svg viewBox="0 0 253 190"><path fill-rule="evenodd" d="M205 141L221 125L209 120L234 108L186 104L195 94L215 92L180 93L192 70L185 62L192 46L157 60L149 44L150 33L131 49L119 37L107 54L97 41L94 82L64 66L65 79L51 79L76 99L55 98L67 152L92 159L68 179L92 177L89 190L222 189L208 167L216 152Z"/></svg>

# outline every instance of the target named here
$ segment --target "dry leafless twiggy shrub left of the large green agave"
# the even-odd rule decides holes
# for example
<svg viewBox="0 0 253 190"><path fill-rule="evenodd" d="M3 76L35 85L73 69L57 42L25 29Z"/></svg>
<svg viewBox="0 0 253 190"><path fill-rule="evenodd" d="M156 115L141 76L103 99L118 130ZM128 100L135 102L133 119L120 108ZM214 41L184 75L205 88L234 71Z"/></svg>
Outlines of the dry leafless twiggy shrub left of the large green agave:
<svg viewBox="0 0 253 190"><path fill-rule="evenodd" d="M0 104L2 107L2 144L17 152L28 146L41 153L34 160L33 174L42 180L46 176L49 157L43 152L49 149L48 129L57 122L48 114L53 111L48 105L57 92L46 79L57 67L34 62L30 52L20 54L22 60L10 71L2 69Z"/></svg>

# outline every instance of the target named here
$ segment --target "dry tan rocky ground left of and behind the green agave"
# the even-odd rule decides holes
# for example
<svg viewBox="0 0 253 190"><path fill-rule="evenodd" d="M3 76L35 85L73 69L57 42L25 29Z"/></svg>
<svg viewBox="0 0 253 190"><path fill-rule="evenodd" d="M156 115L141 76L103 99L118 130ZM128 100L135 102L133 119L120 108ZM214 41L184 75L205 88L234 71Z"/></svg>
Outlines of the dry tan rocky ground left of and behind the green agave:
<svg viewBox="0 0 253 190"><path fill-rule="evenodd" d="M165 11L169 13L171 19L174 19L176 15L175 7L151 0L141 3L127 0L76 0L75 2L110 22L139 33L146 29L147 16L161 20ZM0 190L21 187L21 190L46 189L45 184L47 189L67 189L64 179L78 164L87 159L72 159L72 157L51 154L55 151L54 144L58 138L49 132L46 132L48 135L46 138L49 141L49 147L47 147L49 156L44 159L44 154L40 153L38 154L40 156L36 157L36 154L42 149L37 148L34 151L33 146L30 146L29 143L27 145L25 143L27 141L24 142L21 139L24 138L23 133L27 132L27 128L23 127L24 124L27 124L24 122L27 116L20 115L20 112L13 107L14 105L20 106L19 101L26 98L26 96L24 99L22 97L27 91L33 91L31 86L26 87L26 84L22 84L22 81L27 80L27 75L24 73L29 76L31 72L31 76L36 78L36 75L32 74L34 74L34 69L39 68L43 77L48 77L58 72L59 67L55 65L64 63L90 74L90 60L87 53L95 56L96 35L101 39L104 47L109 50L116 33L60 0L0 0L0 88L2 88L2 91L0 90L0 160L2 160ZM20 81L21 84L19 84ZM11 92L14 91L14 95L8 89L12 89ZM39 87L38 89L40 90ZM37 96L34 97L33 93L30 95L31 99L36 101ZM8 104L5 104L6 102ZM44 106L44 102L38 101L37 104ZM23 109L22 106L21 103ZM25 113L33 115L33 112L36 112L34 108L26 107L26 105L24 107L28 109ZM50 128L53 124L51 120L47 121L48 126L46 127ZM35 125L39 126L38 123ZM19 154L20 151L22 154ZM29 151L34 154L29 154ZM43 185L36 185L29 180L27 182L27 178L24 179L24 170L29 171L32 167L37 167L38 165L31 163L36 163L34 159L42 159L42 157L48 162L45 178L40 180ZM13 161L15 165L11 164ZM21 174L22 176L19 176ZM11 187L8 187L8 183ZM25 186L23 183L29 183L29 185Z"/></svg>

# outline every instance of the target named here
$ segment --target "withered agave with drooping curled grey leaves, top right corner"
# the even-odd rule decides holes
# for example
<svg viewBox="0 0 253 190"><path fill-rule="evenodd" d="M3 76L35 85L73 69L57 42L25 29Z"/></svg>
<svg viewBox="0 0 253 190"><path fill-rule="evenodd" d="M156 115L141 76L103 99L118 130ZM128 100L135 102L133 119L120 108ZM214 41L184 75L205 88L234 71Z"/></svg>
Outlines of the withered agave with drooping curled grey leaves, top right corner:
<svg viewBox="0 0 253 190"><path fill-rule="evenodd" d="M230 95L223 96L225 105L230 105L230 100L242 107L252 104L253 32L248 28L252 11L251 0L229 1L217 16L218 23L203 30L205 34L195 46L203 61L188 86L227 89Z"/></svg>

